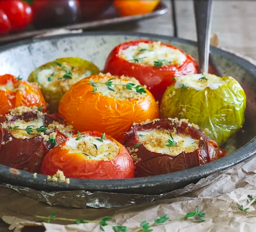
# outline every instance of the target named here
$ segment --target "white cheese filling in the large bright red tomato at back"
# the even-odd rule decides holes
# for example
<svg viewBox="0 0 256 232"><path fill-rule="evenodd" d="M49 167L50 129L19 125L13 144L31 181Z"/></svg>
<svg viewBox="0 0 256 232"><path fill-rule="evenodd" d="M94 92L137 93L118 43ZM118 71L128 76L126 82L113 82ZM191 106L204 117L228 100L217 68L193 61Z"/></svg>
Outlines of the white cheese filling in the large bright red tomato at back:
<svg viewBox="0 0 256 232"><path fill-rule="evenodd" d="M150 44L139 43L121 50L119 56L131 63L154 66L154 62L162 61L163 65L182 65L186 56L177 49L161 45L161 42Z"/></svg>

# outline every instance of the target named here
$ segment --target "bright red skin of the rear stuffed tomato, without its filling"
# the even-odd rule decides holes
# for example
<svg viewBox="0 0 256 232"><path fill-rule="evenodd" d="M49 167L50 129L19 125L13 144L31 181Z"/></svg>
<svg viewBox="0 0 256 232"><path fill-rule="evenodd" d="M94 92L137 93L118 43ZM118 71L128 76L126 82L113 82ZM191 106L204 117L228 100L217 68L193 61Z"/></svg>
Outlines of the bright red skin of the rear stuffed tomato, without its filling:
<svg viewBox="0 0 256 232"><path fill-rule="evenodd" d="M117 76L125 75L135 77L141 85L147 85L147 88L159 103L166 88L174 83L174 80L172 80L174 76L197 73L197 65L194 59L190 55L185 54L182 50L170 44L162 43L162 45L177 49L186 55L187 59L182 65L168 65L167 67L158 68L130 63L118 56L120 50L124 50L129 46L137 45L141 42L153 43L153 41L149 40L135 40L124 42L115 47L109 53L103 72Z"/></svg>

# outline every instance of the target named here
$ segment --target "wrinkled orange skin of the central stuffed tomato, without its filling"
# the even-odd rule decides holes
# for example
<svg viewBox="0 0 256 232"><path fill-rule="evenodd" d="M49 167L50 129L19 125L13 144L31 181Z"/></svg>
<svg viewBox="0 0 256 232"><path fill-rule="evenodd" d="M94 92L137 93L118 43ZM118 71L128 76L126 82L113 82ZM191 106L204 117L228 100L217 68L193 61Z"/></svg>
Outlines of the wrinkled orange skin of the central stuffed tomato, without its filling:
<svg viewBox="0 0 256 232"><path fill-rule="evenodd" d="M118 100L101 93L91 93L90 79L99 81L102 76L85 78L72 85L59 103L59 115L74 129L105 132L122 143L124 132L133 122L143 122L159 117L159 109L153 95L147 91L136 100ZM108 76L118 78L117 76Z"/></svg>

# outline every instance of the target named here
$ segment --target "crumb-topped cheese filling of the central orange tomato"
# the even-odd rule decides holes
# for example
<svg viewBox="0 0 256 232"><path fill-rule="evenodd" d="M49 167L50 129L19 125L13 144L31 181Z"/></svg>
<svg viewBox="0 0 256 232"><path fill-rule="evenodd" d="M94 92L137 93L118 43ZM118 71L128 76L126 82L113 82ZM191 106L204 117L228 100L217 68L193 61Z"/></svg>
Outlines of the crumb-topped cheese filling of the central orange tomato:
<svg viewBox="0 0 256 232"><path fill-rule="evenodd" d="M117 77L109 75L111 74L107 73L105 75L103 73L100 73L99 76L101 76L102 78L99 78L97 80L92 79L93 82L100 82L97 83L98 86L96 87L96 91L98 93L103 94L107 97L113 97L118 100L135 100L144 97L144 93L138 93L135 89L136 86L140 85L137 79L126 76ZM111 86L103 84L104 82L109 81L109 79L111 78L115 78L111 80ZM126 85L128 83L132 83L134 85L130 89L127 89ZM145 88L145 86L141 88Z"/></svg>

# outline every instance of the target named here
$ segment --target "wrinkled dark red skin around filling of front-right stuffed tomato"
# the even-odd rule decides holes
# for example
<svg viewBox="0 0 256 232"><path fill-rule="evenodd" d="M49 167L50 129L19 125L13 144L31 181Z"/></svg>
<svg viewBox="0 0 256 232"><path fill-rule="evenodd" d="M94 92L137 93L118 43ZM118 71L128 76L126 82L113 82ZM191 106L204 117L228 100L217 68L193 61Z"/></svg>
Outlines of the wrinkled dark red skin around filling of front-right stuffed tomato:
<svg viewBox="0 0 256 232"><path fill-rule="evenodd" d="M179 153L170 156L147 150L143 144L136 149L138 161L135 161L135 172L137 177L156 176L176 171L197 167L224 157L227 152L218 147L217 143L210 139L197 126L191 126L188 122L174 123L171 119L156 120L147 124L136 124L132 126L125 135L124 146L132 148L139 143L138 131L147 129L177 129L177 133L190 135L200 140L199 148L191 153Z"/></svg>

